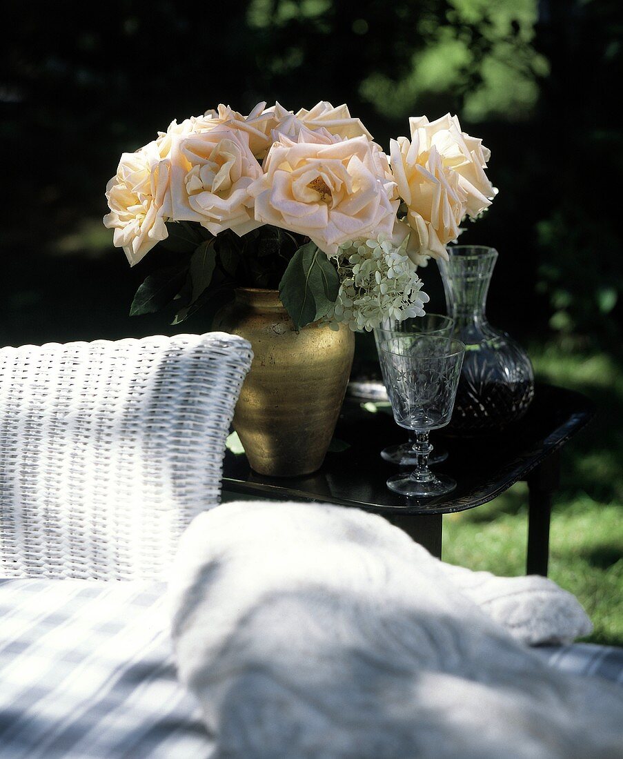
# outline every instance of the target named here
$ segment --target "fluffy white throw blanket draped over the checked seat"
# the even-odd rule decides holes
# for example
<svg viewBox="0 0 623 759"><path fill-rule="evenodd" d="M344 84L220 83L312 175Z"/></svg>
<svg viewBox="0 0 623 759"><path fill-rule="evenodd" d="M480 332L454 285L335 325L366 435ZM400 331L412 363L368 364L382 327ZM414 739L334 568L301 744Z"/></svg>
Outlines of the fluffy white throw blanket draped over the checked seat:
<svg viewBox="0 0 623 759"><path fill-rule="evenodd" d="M571 594L440 562L379 515L220 505L169 601L219 759L623 757L623 689L524 644L590 631Z"/></svg>

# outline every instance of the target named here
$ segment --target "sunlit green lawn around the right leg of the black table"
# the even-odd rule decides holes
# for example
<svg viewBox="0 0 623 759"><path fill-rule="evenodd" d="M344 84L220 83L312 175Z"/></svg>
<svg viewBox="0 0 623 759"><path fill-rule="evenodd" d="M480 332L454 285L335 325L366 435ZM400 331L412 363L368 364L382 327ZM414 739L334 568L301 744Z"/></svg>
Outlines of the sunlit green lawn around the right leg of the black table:
<svg viewBox="0 0 623 759"><path fill-rule="evenodd" d="M584 640L623 646L623 362L601 353L529 348L537 379L584 392L596 418L565 446L550 534L549 577L593 621ZM445 561L496 575L525 572L527 485L444 519Z"/></svg>

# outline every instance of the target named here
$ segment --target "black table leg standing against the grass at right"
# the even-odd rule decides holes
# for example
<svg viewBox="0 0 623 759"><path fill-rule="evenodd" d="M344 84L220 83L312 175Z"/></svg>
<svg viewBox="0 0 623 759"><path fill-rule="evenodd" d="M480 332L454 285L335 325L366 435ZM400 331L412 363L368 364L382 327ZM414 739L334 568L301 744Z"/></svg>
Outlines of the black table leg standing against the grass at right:
<svg viewBox="0 0 623 759"><path fill-rule="evenodd" d="M527 477L528 547L527 575L547 577L549 560L549 520L552 495L560 482L560 452L555 451Z"/></svg>

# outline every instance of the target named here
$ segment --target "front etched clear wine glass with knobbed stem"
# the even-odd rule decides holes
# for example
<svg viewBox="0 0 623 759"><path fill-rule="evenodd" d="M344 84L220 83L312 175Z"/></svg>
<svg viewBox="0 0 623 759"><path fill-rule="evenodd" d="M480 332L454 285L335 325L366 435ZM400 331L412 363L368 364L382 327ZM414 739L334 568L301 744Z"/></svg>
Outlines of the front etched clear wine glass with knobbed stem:
<svg viewBox="0 0 623 759"><path fill-rule="evenodd" d="M441 496L456 487L455 480L429 469L433 446L429 433L445 427L452 417L465 346L440 335L398 335L382 339L379 359L383 382L396 424L415 433L412 446L417 463L411 473L389 477L387 487L404 496Z"/></svg>

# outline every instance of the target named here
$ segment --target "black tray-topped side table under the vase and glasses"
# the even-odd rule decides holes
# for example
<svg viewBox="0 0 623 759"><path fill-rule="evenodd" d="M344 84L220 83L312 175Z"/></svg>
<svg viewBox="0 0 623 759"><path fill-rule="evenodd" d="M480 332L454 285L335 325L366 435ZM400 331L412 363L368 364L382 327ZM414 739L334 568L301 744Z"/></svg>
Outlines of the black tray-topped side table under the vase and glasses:
<svg viewBox="0 0 623 759"><path fill-rule="evenodd" d="M503 433L481 438L454 438L436 430L433 446L448 450L435 467L454 477L457 488L446 496L417 501L392 493L385 480L396 471L382 460L385 446L407 439L391 411L371 413L349 399L342 408L335 438L349 444L329 452L323 467L307 477L275 478L253 472L244 454L225 453L223 490L255 498L305 500L355 506L382 514L425 546L442 555L442 515L474 509L527 480L527 574L547 575L552 496L558 487L565 444L595 414L580 393L537 384L524 418Z"/></svg>

